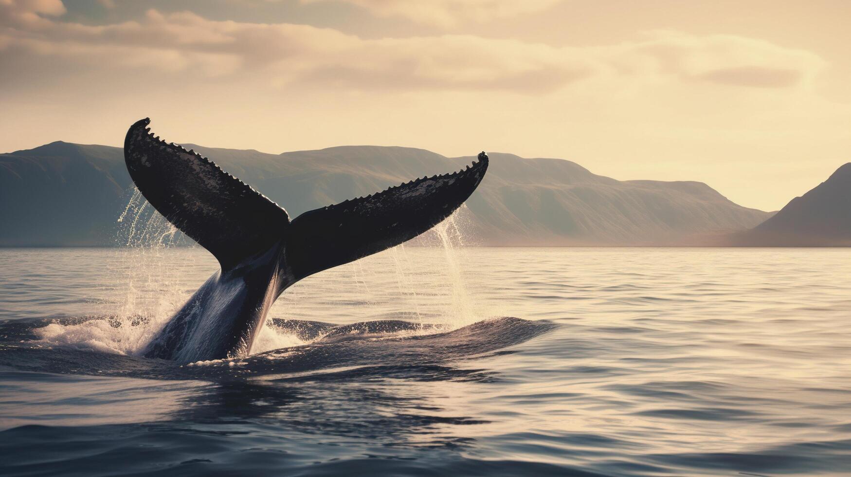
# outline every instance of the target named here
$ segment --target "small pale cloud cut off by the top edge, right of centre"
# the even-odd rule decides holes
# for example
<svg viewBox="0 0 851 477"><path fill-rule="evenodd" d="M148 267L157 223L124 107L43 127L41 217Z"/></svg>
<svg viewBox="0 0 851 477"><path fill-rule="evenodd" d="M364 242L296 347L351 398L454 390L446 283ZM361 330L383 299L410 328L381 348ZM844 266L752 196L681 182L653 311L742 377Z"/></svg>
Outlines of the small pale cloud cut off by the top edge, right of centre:
<svg viewBox="0 0 851 477"><path fill-rule="evenodd" d="M275 1L275 0L271 0ZM300 0L301 3L351 3L381 17L402 17L443 28L465 21L485 22L548 9L562 0Z"/></svg>

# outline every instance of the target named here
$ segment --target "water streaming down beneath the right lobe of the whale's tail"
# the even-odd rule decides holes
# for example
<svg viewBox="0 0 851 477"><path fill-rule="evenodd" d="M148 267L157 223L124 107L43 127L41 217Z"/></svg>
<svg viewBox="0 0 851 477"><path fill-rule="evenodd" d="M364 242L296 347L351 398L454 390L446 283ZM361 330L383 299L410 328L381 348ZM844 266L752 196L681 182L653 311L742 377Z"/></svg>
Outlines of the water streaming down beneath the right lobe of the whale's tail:
<svg viewBox="0 0 851 477"><path fill-rule="evenodd" d="M465 251L465 214L462 207L411 244L294 284L271 308L266 328L271 328L272 319L333 323L402 319L437 325L413 332L431 334L501 314L475 300L468 276L474 268ZM268 349L272 348L255 342L252 352Z"/></svg>

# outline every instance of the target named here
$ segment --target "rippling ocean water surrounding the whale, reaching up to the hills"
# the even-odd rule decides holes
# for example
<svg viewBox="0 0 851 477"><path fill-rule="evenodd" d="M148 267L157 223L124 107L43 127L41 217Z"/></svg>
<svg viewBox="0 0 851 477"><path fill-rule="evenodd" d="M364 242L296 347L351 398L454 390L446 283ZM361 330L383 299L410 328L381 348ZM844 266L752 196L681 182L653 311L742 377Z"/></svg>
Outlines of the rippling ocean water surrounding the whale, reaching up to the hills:
<svg viewBox="0 0 851 477"><path fill-rule="evenodd" d="M851 474L851 250L397 247L134 356L215 269L0 250L0 474Z"/></svg>

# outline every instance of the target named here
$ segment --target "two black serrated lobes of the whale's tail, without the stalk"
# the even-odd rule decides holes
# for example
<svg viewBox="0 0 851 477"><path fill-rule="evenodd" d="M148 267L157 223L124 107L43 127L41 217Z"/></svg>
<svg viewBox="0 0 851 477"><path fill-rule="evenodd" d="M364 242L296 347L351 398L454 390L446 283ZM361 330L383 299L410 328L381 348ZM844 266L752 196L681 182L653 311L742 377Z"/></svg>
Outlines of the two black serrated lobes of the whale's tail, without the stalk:
<svg viewBox="0 0 851 477"><path fill-rule="evenodd" d="M388 249L452 214L488 170L482 152L466 170L410 181L290 221L286 210L209 159L154 137L148 124L148 118L136 122L124 140L130 177L223 271L282 242L294 280Z"/></svg>

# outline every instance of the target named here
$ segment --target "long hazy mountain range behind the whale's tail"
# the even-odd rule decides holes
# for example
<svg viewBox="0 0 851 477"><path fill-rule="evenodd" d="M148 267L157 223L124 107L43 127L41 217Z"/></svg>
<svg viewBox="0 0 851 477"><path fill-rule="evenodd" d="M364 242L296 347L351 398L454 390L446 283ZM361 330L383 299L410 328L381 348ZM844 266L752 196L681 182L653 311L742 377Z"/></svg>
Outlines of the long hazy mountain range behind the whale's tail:
<svg viewBox="0 0 851 477"><path fill-rule="evenodd" d="M346 146L280 155L184 144L286 208L306 210L375 193L473 157L408 147ZM564 159L490 153L467 202L479 244L698 244L707 233L770 216L693 181L616 181ZM119 147L52 142L0 154L0 245L113 245L132 187Z"/></svg>

